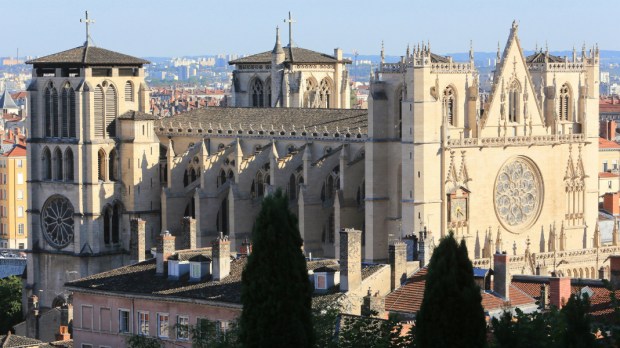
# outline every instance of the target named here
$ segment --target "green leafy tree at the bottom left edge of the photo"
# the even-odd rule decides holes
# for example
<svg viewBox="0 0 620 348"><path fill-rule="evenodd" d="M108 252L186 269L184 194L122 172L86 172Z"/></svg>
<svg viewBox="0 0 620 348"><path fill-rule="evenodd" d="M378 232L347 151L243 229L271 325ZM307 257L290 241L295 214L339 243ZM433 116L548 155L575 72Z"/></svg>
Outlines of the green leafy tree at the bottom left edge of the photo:
<svg viewBox="0 0 620 348"><path fill-rule="evenodd" d="M22 282L16 276L0 279L0 333L22 320Z"/></svg>

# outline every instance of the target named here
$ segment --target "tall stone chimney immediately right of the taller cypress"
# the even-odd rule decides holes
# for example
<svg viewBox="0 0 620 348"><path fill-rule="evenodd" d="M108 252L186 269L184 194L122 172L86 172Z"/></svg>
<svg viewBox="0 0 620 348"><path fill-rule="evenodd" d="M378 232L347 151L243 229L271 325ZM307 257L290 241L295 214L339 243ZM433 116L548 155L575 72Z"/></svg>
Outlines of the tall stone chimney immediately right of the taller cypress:
<svg viewBox="0 0 620 348"><path fill-rule="evenodd" d="M362 232L340 230L340 291L356 290L362 283Z"/></svg>

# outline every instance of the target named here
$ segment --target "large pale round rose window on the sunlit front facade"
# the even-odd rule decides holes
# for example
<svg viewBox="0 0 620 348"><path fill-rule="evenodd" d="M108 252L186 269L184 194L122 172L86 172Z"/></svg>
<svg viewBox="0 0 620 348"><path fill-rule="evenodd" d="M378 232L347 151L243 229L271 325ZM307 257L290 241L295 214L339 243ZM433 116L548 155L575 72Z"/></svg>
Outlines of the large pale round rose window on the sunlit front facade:
<svg viewBox="0 0 620 348"><path fill-rule="evenodd" d="M504 227L528 225L538 216L542 199L539 178L538 170L524 158L502 167L495 181L495 211Z"/></svg>

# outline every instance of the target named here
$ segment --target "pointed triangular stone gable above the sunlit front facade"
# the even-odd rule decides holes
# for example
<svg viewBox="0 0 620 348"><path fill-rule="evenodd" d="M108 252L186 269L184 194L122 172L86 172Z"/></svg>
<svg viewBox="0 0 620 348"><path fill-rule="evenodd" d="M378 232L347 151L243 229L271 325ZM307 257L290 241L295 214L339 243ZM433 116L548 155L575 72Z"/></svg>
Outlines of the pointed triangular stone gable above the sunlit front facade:
<svg viewBox="0 0 620 348"><path fill-rule="evenodd" d="M546 134L515 22L493 77L490 101L482 119L482 137ZM516 91L516 93L512 93Z"/></svg>

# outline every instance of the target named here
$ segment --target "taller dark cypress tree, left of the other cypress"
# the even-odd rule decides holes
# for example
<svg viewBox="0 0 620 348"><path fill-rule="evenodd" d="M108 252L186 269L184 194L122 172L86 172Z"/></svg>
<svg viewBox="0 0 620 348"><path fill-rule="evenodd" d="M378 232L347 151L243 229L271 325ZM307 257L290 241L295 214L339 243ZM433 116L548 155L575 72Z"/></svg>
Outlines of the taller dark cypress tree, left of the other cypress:
<svg viewBox="0 0 620 348"><path fill-rule="evenodd" d="M297 218L281 190L263 199L252 243L242 275L242 345L312 347L312 286Z"/></svg>

